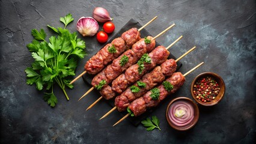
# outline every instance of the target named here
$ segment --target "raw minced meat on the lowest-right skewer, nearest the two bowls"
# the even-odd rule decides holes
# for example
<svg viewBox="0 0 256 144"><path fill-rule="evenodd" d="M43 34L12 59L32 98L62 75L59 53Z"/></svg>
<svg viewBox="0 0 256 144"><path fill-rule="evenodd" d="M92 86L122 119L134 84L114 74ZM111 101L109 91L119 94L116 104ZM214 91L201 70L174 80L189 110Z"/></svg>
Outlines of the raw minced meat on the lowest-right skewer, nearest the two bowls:
<svg viewBox="0 0 256 144"><path fill-rule="evenodd" d="M185 82L185 77L183 74L177 72L173 73L171 77L166 79L169 83L173 85L173 89L171 91L166 91L165 88L163 88L163 85L159 85L156 88L160 90L160 95L158 100L152 100L150 97L151 91L148 91L146 94L143 95L143 97L140 97L132 103L129 104L129 109L132 110L135 116L139 116L142 113L144 113L147 109L150 109L152 107L156 107L160 101L164 100L168 95L174 94ZM127 104L126 104L127 106Z"/></svg>

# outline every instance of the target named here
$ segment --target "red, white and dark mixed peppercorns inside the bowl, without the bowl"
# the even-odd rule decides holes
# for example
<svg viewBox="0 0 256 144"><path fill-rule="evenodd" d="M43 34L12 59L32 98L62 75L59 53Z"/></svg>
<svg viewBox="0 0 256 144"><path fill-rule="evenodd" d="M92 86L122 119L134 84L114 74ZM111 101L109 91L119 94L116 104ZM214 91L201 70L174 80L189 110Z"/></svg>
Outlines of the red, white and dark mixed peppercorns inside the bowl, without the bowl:
<svg viewBox="0 0 256 144"><path fill-rule="evenodd" d="M219 89L219 84L213 77L202 77L195 82L193 92L198 100L209 102L216 98Z"/></svg>

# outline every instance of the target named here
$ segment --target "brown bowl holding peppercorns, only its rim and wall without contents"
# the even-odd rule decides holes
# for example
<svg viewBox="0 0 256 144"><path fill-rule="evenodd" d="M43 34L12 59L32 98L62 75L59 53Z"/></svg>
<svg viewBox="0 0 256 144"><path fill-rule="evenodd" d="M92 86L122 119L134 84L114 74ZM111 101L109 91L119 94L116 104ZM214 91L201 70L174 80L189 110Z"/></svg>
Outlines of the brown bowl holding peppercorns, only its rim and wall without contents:
<svg viewBox="0 0 256 144"><path fill-rule="evenodd" d="M207 76L213 77L218 82L220 89L219 89L219 94L216 96L215 100L203 102L203 101L197 99L197 97L195 96L195 94L193 92L193 88L194 88L195 82L197 82L198 79L201 79L202 77L207 77ZM197 101L197 103L199 103L203 106L213 106L215 104L218 104L222 100L222 98L224 97L225 83L222 80L221 76L219 76L216 73L212 73L212 72L201 73L197 77L195 77L195 79L191 83L190 92L191 92L192 97L194 98L194 100Z"/></svg>

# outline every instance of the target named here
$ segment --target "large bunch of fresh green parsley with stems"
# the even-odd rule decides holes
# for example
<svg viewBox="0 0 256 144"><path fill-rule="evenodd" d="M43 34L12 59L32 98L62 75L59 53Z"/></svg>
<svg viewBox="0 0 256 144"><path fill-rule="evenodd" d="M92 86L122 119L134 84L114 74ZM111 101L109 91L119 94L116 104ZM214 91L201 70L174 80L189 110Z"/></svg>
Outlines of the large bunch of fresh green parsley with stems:
<svg viewBox="0 0 256 144"><path fill-rule="evenodd" d="M49 42L46 41L44 29L40 31L32 29L34 40L27 45L35 61L25 70L26 83L35 84L40 91L46 86L49 92L44 92L43 99L51 107L58 102L53 94L53 84L58 83L69 100L65 87L73 88L73 85L69 84L71 80L67 77L75 76L78 59L86 55L85 41L77 38L76 32L72 34L66 29L66 26L73 20L72 14L61 17L60 21L64 23L64 29L47 25L57 34L57 36L51 36Z"/></svg>

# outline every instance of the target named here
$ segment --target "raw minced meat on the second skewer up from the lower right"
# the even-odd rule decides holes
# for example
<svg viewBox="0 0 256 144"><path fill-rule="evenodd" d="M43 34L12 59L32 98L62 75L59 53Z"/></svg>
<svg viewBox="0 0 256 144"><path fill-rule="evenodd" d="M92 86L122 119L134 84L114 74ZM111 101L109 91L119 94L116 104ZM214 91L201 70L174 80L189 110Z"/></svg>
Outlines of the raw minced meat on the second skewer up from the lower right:
<svg viewBox="0 0 256 144"><path fill-rule="evenodd" d="M131 103L133 100L135 100L136 98L141 97L142 95L144 95L148 90L154 88L154 86L158 85L159 83L163 82L163 80L165 79L165 77L168 77L170 75L172 75L172 73L174 73L176 71L177 68L177 64L175 62L174 59L168 59L165 62L163 62L160 66L157 66L156 68L154 68L154 70L150 71L150 73L145 74L141 80L141 82L146 83L146 87L145 88L140 88L139 92L130 92L130 88L127 88L121 95L117 96L117 98L115 98L115 103L119 103L118 97L123 97L123 96L127 96L128 94L133 95L130 97L135 97L134 99L129 99L129 101L125 101L127 103ZM135 84L135 86L138 86L137 84ZM128 94L127 94L128 93ZM127 103L122 102L125 106L127 106ZM120 105L116 105L118 111L123 111L126 110L125 106L120 106ZM118 107L122 107L122 109L119 109Z"/></svg>

